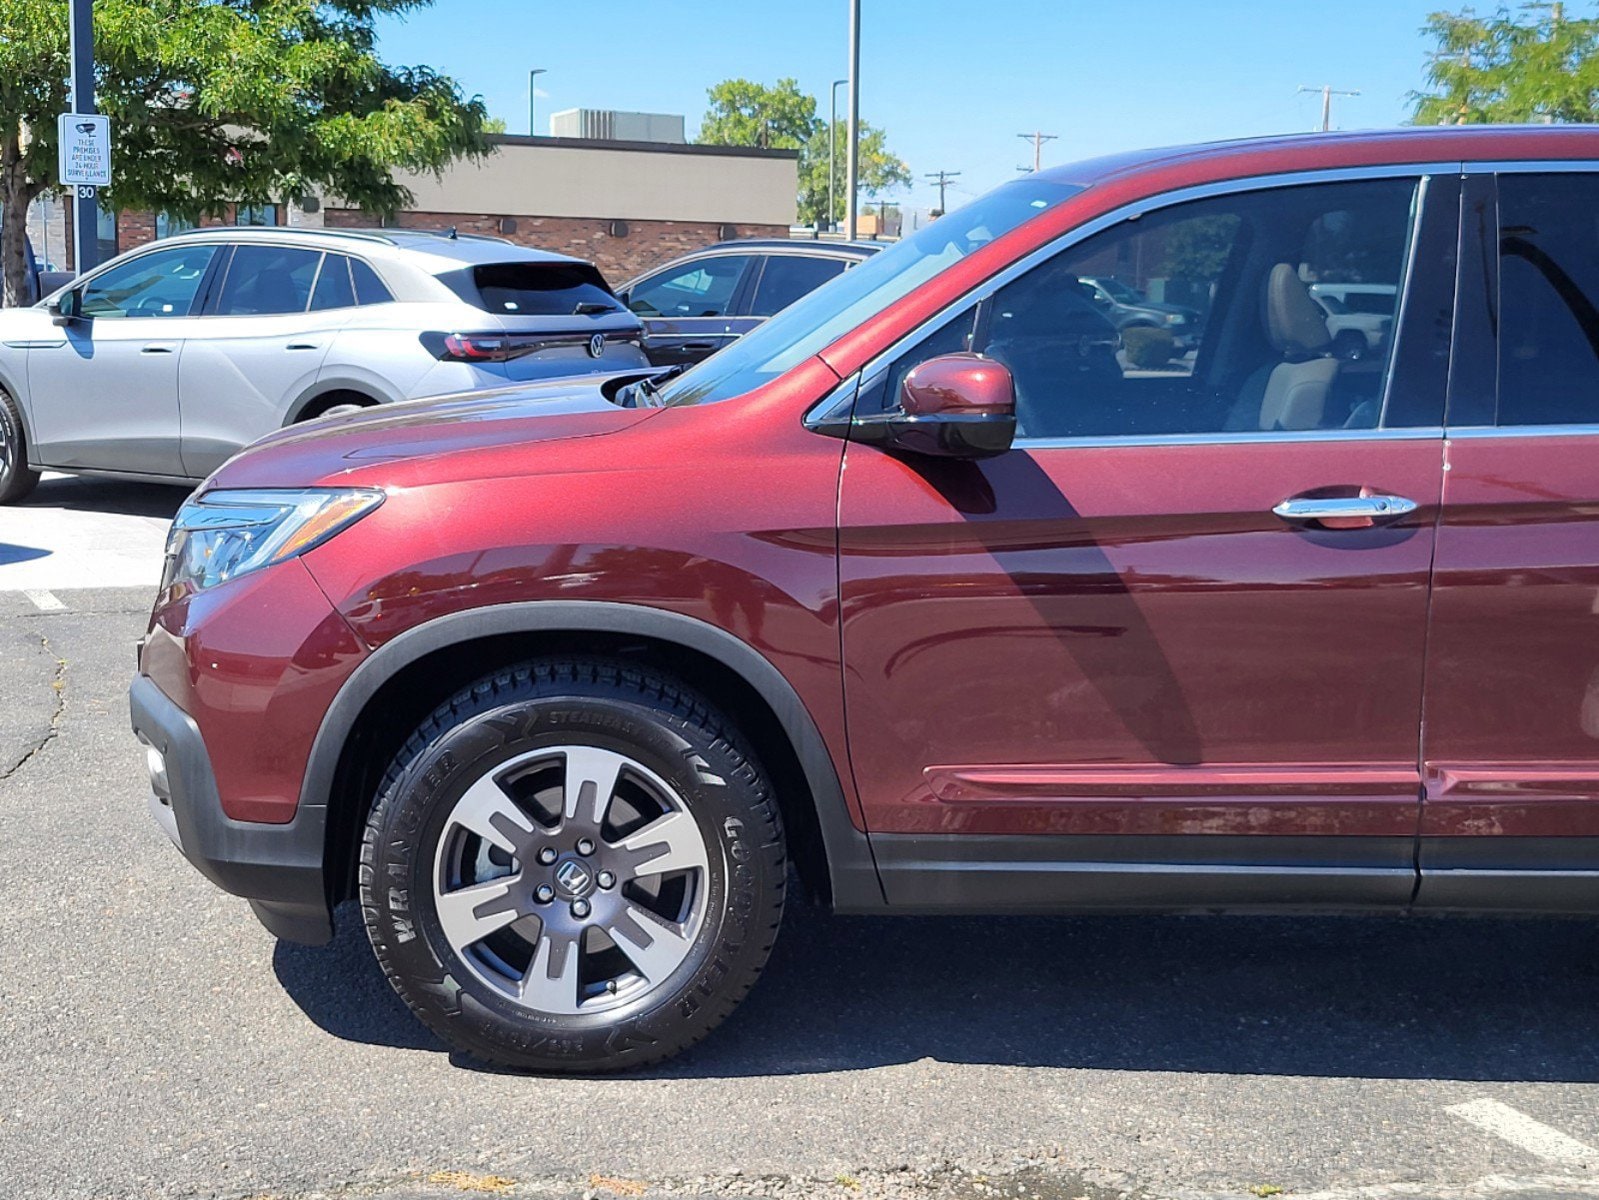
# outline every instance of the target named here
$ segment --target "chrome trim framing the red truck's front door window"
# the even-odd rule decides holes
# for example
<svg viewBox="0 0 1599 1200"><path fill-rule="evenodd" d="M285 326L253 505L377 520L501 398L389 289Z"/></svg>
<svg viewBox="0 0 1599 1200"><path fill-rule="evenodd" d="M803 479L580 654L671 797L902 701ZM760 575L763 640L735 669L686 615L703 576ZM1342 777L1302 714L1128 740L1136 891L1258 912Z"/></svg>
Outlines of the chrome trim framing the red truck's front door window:
<svg viewBox="0 0 1599 1200"><path fill-rule="evenodd" d="M953 320L966 309L974 309L985 301L993 299L995 293L1004 288L1007 283L1014 282L1020 275L1025 275L1033 267L1054 258L1063 250L1070 250L1079 242L1086 242L1095 234L1102 234L1113 226L1119 226L1122 221L1134 221L1148 213L1158 211L1161 208L1170 208L1172 205L1182 205L1193 200L1209 200L1218 195L1239 195L1242 192L1265 192L1274 187L1300 187L1305 184L1340 184L1340 182L1361 182L1364 179L1404 179L1415 178L1418 184L1425 184L1428 176L1436 174L1458 174L1463 163L1458 158L1447 162L1423 162L1423 163L1386 163L1380 166L1337 166L1316 171L1282 171L1279 174L1252 174L1242 179L1220 179L1209 184L1194 184L1193 187L1183 187L1175 192L1161 192L1159 195L1145 197L1142 200L1134 200L1121 208L1113 208L1110 213L1103 213L1092 221L1068 229L1060 237L1052 242L1044 243L1038 250L1031 251L1025 258L1017 259L1009 267L1001 270L998 275L991 275L988 280L980 283L972 291L961 296L953 304L940 309L935 315L924 320L908 334L894 342L887 350L871 358L862 370L860 378L863 381L875 382L875 378L887 371L889 366L907 350L916 346L923 338L934 333L943 322ZM1415 205L1415 211L1410 216L1410 234L1409 246L1406 253L1406 294L1409 294L1410 270L1415 266L1417 253L1417 230L1420 229L1422 211L1425 208L1425 187L1418 187L1418 195L1422 203ZM1394 315L1396 328L1398 320L1402 317L1401 312ZM1393 352L1396 346L1390 347L1390 381L1383 384L1383 408L1388 411L1388 387L1393 381ZM862 384L862 392L868 389L868 384ZM1244 430L1233 430L1226 434L1126 434L1113 437L1060 437L1060 438L1031 438L1019 437L1012 445L1019 450L1023 448L1063 448L1063 446L1167 446L1167 445L1236 445L1236 443L1252 443L1252 442L1324 442L1324 440L1340 440L1350 442L1356 438L1367 440L1412 440L1414 437L1442 437L1442 429L1433 427L1417 427L1417 429L1308 429L1308 430L1260 430L1257 434L1242 435ZM1342 437L1340 437L1342 435Z"/></svg>

